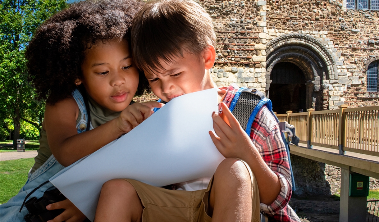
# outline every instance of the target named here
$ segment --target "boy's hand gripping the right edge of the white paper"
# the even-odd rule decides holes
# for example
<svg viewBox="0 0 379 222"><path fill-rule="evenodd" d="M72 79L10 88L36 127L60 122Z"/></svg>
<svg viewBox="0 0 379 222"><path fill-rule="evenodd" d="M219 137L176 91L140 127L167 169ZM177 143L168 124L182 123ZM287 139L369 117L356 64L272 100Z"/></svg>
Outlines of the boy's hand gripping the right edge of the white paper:
<svg viewBox="0 0 379 222"><path fill-rule="evenodd" d="M221 102L221 108L221 114L212 114L213 129L217 135L209 131L211 139L226 158L246 160L247 153L256 148L225 103Z"/></svg>

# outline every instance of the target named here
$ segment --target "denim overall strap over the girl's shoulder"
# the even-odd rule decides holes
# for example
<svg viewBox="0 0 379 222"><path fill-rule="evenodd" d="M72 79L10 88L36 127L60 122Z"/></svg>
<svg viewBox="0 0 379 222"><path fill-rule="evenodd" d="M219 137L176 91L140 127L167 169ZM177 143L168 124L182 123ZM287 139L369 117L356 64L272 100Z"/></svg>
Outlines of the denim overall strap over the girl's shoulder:
<svg viewBox="0 0 379 222"><path fill-rule="evenodd" d="M78 89L75 89L74 92L72 92L72 97L74 97L76 103L78 104L81 113L81 116L78 117L80 120L76 125L78 133L83 133L84 131L92 130L93 127L91 124L90 116L87 112L87 110L89 110L88 102L83 97L83 95L81 95ZM90 122L89 125L87 124L88 122Z"/></svg>

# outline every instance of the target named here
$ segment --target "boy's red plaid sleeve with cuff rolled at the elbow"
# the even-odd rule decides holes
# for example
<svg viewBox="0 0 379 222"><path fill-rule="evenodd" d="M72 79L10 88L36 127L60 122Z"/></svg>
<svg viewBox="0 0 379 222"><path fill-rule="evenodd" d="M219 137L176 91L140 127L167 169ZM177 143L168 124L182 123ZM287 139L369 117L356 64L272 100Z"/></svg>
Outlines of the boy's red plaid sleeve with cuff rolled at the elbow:
<svg viewBox="0 0 379 222"><path fill-rule="evenodd" d="M281 190L271 205L260 204L262 211L269 215L279 213L291 197L291 171L279 126L266 106L258 112L251 127L250 138L260 152L267 166L278 176Z"/></svg>

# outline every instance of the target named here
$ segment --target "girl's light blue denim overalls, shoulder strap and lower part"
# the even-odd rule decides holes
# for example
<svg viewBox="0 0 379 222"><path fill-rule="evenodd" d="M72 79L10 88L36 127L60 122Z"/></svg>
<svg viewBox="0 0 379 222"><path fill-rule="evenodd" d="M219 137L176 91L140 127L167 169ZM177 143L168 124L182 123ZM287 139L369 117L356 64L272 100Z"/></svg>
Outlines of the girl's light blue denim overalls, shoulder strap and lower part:
<svg viewBox="0 0 379 222"><path fill-rule="evenodd" d="M78 117L79 121L77 124L77 131L78 133L82 133L86 131L87 121L88 121L88 113L87 113L87 109L85 105L86 103L83 96L80 94L80 92L77 89L75 89L75 91L72 92L72 96L77 102L79 110L81 112L81 115ZM83 124L84 124L84 129L82 129ZM89 128L92 129L93 127L90 125ZM28 213L28 210L24 207L21 213L19 213L20 207L25 197L31 191L33 191L34 188L38 187L40 184L44 183L45 181L48 181L53 175L55 175L62 169L64 169L64 166L58 163L55 157L51 155L49 159L47 159L47 161L44 164L42 164L41 167L39 167L36 171L33 172L33 174L30 175L30 178L28 178L27 182L21 188L21 190L16 196L12 197L8 202L0 205L1 221L2 222L25 222L23 217ZM48 182L44 184L43 186L41 186L41 188L33 192L33 194L31 194L29 198L42 197L44 192L47 189L50 189L52 187L53 187L53 184Z"/></svg>

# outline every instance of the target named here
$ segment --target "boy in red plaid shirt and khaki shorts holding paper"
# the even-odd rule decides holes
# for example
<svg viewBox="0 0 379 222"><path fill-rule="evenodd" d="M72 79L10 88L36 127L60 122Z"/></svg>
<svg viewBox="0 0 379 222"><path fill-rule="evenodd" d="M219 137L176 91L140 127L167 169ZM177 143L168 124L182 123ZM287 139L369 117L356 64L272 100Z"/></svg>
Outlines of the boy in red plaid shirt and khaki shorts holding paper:
<svg viewBox="0 0 379 222"><path fill-rule="evenodd" d="M133 59L161 100L216 88L209 72L216 57L215 32L197 3L149 2L133 24ZM226 159L213 178L174 184L179 191L129 179L108 181L95 221L259 222L260 211L273 221L300 221L287 205L291 175L279 127L264 106L247 135L228 109L237 90L232 84L218 91L223 112L213 114L218 136L210 136Z"/></svg>

